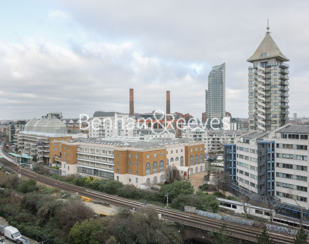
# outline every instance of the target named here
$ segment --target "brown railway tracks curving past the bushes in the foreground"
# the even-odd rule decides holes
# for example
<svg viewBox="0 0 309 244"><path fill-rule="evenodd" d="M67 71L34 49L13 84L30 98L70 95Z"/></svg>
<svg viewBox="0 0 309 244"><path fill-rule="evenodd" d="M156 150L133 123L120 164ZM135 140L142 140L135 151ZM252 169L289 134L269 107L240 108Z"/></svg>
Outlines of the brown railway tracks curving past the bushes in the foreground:
<svg viewBox="0 0 309 244"><path fill-rule="evenodd" d="M21 168L14 163L11 163L5 159L0 159L0 163L3 165L15 170L16 172L20 171L21 175L35 179L40 183L44 183L49 186L58 187L61 190L78 193L78 195L82 195L85 197L89 197L93 200L99 200L106 203L111 203L117 206L126 206L129 208L138 209L139 207L144 206L143 203L138 203L135 201L123 199L117 196L111 196L108 194L104 194L101 192L88 190L79 186L71 185L69 183L63 183L54 179L50 179L45 176L41 176L39 174L30 172L24 168ZM231 233L234 238L248 241L248 242L256 242L256 236L261 234L263 229L253 226L245 226L242 224L232 224L230 222L217 220L213 218L207 218L195 214L185 213L185 212L177 212L174 210L165 209L162 207L158 207L155 205L147 205L153 208L156 208L158 212L162 215L162 217L169 221L179 222L184 225L188 225L190 227L196 227L199 229L218 232L222 228L222 224L226 224L226 231ZM285 235L281 233L270 232L270 237L273 239L273 243L278 244L292 244L293 236Z"/></svg>

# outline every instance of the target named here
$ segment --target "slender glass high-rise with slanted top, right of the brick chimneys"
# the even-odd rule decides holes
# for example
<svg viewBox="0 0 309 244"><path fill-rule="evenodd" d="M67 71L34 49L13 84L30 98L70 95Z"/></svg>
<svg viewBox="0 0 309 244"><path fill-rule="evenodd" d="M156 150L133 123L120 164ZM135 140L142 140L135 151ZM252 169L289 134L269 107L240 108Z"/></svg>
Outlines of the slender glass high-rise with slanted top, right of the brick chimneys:
<svg viewBox="0 0 309 244"><path fill-rule="evenodd" d="M208 76L208 91L205 94L207 98L208 128L212 119L217 119L218 128L223 127L223 117L226 116L226 64L213 66Z"/></svg>

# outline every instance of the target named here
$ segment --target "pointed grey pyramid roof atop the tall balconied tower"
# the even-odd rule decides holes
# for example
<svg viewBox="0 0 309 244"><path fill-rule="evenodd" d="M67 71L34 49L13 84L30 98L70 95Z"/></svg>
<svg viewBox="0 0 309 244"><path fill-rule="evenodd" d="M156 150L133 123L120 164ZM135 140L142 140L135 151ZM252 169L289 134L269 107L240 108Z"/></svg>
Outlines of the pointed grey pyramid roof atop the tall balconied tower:
<svg viewBox="0 0 309 244"><path fill-rule="evenodd" d="M261 57L262 53L266 53L266 57ZM254 54L247 59L248 62L254 62L257 60L270 59L270 58L278 58L281 61L289 61L289 59L283 55L275 41L271 38L269 32L266 33L265 38L256 49Z"/></svg>

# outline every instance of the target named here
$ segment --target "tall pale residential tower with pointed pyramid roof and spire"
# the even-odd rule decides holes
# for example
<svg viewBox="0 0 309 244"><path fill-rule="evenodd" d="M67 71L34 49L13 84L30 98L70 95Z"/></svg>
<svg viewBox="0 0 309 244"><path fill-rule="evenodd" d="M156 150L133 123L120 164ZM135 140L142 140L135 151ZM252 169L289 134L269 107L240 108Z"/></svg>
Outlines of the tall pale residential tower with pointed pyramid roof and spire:
<svg viewBox="0 0 309 244"><path fill-rule="evenodd" d="M267 27L266 36L247 60L249 67L249 129L269 131L288 123L288 68Z"/></svg>

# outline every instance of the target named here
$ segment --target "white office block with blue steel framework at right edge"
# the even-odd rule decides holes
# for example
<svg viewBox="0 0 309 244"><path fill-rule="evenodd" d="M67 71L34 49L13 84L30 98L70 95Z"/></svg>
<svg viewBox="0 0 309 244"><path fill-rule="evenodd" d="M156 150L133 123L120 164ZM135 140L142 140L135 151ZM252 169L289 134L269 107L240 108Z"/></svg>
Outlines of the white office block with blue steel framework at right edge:
<svg viewBox="0 0 309 244"><path fill-rule="evenodd" d="M272 202L279 213L309 221L309 125L284 125L271 132L248 132L224 145L225 171L238 184L230 192L246 192ZM291 211L291 209L293 209Z"/></svg>

